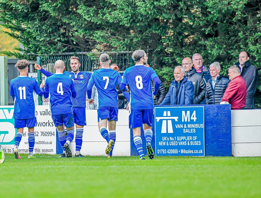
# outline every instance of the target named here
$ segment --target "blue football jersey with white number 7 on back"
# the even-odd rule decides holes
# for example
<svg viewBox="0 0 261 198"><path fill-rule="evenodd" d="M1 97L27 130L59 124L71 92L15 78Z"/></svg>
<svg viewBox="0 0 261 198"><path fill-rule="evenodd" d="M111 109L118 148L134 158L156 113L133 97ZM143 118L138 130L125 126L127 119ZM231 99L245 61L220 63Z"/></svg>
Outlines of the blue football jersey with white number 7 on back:
<svg viewBox="0 0 261 198"><path fill-rule="evenodd" d="M118 107L116 86L121 81L119 72L110 68L101 68L92 73L89 83L94 83L97 88L97 108Z"/></svg>

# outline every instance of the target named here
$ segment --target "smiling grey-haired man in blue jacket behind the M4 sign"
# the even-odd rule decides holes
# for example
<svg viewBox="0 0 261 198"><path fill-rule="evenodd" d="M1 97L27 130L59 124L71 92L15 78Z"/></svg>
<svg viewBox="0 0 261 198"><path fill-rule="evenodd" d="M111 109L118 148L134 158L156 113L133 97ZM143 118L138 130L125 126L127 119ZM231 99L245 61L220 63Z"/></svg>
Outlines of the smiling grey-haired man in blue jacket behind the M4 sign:
<svg viewBox="0 0 261 198"><path fill-rule="evenodd" d="M193 105L194 86L182 66L175 67L174 78L161 105Z"/></svg>

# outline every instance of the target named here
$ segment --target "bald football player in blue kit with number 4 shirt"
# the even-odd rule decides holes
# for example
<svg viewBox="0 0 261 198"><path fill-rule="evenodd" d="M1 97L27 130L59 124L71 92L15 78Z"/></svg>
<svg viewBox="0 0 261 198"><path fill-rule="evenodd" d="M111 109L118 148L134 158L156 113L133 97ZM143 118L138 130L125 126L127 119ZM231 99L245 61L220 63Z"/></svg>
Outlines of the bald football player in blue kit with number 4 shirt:
<svg viewBox="0 0 261 198"><path fill-rule="evenodd" d="M44 98L48 98L50 93L52 120L57 128L59 141L66 152L66 157L72 157L70 143L74 138L74 117L71 97L76 97L76 91L73 80L63 75L64 68L64 61L55 62L56 73L46 78ZM64 125L68 133L67 139L64 135Z"/></svg>

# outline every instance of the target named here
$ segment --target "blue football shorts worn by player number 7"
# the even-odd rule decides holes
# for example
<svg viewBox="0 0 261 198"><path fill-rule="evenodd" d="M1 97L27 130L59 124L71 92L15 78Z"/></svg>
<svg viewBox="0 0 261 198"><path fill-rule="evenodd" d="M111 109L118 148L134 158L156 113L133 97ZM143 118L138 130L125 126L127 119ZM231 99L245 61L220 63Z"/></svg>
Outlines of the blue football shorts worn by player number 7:
<svg viewBox="0 0 261 198"><path fill-rule="evenodd" d="M118 107L99 107L97 113L98 122L105 119L118 121Z"/></svg>

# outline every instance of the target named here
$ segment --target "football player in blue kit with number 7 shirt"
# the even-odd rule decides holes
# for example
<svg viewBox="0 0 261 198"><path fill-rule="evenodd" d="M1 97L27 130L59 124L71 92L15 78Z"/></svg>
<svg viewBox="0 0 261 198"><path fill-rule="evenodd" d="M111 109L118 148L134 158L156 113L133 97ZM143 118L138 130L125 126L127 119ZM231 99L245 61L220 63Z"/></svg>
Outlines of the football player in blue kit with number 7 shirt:
<svg viewBox="0 0 261 198"><path fill-rule="evenodd" d="M97 88L97 113L99 131L108 145L105 153L108 158L112 157L112 150L116 140L116 121L118 120L118 95L117 83L120 85L122 77L119 72L110 69L110 58L108 54L99 57L101 69L95 70L89 80L87 87L88 102L93 103L91 98L92 87ZM128 99L128 96L127 96ZM107 122L109 132L107 131Z"/></svg>

